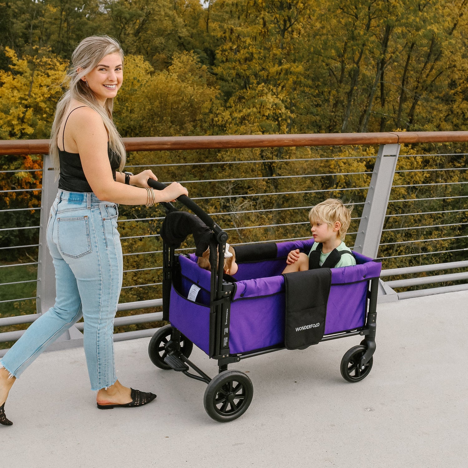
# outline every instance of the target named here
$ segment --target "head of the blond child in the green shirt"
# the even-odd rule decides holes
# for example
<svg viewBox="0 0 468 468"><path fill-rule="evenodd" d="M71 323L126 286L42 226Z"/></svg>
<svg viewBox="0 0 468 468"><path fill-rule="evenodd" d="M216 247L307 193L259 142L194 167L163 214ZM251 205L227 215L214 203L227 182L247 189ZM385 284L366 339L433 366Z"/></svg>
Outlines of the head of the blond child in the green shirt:
<svg viewBox="0 0 468 468"><path fill-rule="evenodd" d="M336 238L336 240L344 241L344 236L351 224L352 209L353 205L344 205L336 198L329 198L313 206L309 212L309 221L314 240L323 242ZM327 229L324 228L324 224L327 225Z"/></svg>

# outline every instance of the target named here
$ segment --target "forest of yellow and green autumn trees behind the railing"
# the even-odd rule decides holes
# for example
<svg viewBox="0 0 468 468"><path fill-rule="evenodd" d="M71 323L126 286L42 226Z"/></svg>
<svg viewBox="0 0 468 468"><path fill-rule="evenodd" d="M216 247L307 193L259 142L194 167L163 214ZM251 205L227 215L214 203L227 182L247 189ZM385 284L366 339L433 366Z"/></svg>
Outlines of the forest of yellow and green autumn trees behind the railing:
<svg viewBox="0 0 468 468"><path fill-rule="evenodd" d="M71 53L94 34L116 37L125 52L114 109L123 137L467 130L467 9L468 0L0 1L0 139L49 138ZM353 201L352 246L366 191L350 187L368 187L376 151L132 153L127 164L190 183L190 196L205 197L205 211L228 213L217 222L234 244L307 237L308 207L328 196ZM414 156L399 159L394 184L403 187L392 197L414 202L389 205L384 268L464 259L465 146L407 146L401 154ZM40 188L41 168L40 156L0 156L1 190ZM420 185L429 183L439 185ZM278 192L295 193L256 196ZM40 191L0 200L0 210L38 205ZM38 213L0 211L1 227L36 226ZM132 254L124 257L121 302L161 297L161 255L134 255L161 250L161 216L121 206L119 231ZM11 246L37 244L35 231L1 231L1 264L32 263L37 247ZM400 233L434 241L395 243ZM0 277L2 284L31 279L0 285L0 300L35 294L34 265L0 268ZM131 287L144 284L151 286ZM33 313L34 303L2 303L0 315Z"/></svg>

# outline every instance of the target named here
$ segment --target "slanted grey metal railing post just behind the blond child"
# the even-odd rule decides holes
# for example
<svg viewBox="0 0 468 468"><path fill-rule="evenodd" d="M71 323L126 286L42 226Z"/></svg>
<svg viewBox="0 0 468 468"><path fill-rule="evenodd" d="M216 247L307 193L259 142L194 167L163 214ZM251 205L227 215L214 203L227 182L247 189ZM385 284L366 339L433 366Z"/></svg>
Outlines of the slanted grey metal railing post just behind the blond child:
<svg viewBox="0 0 468 468"><path fill-rule="evenodd" d="M356 252L371 258L375 258L379 252L380 237L399 153L399 144L380 145L375 161L354 244Z"/></svg>

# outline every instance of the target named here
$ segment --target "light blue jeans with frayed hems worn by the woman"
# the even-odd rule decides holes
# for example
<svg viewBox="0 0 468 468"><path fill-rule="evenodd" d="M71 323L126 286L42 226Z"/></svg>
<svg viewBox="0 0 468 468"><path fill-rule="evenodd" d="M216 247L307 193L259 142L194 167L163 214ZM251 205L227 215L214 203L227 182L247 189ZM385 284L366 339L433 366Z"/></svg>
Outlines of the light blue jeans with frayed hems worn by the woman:
<svg viewBox="0 0 468 468"><path fill-rule="evenodd" d="M123 270L117 215L115 203L94 193L59 190L47 224L57 297L2 358L0 365L10 374L19 377L83 316L91 389L115 383L112 335Z"/></svg>

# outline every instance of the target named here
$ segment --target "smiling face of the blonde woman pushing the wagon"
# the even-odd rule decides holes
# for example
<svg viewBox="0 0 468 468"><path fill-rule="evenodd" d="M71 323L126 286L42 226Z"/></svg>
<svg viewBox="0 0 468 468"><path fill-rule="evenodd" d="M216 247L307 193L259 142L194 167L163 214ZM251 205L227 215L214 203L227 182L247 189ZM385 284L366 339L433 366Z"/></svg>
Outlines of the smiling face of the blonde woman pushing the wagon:
<svg viewBox="0 0 468 468"><path fill-rule="evenodd" d="M97 101L103 106L106 99L117 96L124 79L123 60L120 54L113 53L102 57L99 64L82 78L88 83Z"/></svg>

